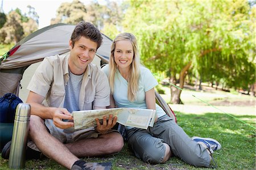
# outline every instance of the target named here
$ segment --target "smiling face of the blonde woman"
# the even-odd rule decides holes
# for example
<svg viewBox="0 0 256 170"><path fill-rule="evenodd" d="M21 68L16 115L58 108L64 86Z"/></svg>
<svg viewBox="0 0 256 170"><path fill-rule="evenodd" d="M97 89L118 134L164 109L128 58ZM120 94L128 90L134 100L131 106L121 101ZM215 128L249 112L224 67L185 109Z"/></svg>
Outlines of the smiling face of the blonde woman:
<svg viewBox="0 0 256 170"><path fill-rule="evenodd" d="M118 69L130 68L133 56L133 45L130 40L120 40L115 43L114 60Z"/></svg>

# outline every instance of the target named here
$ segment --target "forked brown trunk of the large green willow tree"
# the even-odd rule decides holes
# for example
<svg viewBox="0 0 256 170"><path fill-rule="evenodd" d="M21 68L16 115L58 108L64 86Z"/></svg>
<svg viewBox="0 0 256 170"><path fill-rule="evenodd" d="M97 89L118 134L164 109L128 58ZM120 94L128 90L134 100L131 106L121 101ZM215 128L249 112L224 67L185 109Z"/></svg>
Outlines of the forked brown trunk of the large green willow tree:
<svg viewBox="0 0 256 170"><path fill-rule="evenodd" d="M188 73L188 69L191 66L191 61L181 70L180 72L180 76L179 76L179 84L180 84L180 88L183 89L184 87L184 81L185 81L185 76ZM175 76L171 76L170 78L170 82L174 85L176 85L176 78ZM170 89L171 89L171 103L174 104L183 104L181 99L180 99L180 94L181 94L181 90L176 88L175 86L170 85Z"/></svg>

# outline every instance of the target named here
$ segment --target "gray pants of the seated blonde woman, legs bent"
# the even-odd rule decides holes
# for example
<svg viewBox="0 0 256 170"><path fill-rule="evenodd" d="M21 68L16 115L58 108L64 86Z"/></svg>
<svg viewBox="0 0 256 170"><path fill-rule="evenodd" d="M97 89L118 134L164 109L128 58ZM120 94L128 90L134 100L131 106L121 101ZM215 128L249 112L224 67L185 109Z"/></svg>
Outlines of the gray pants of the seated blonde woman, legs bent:
<svg viewBox="0 0 256 170"><path fill-rule="evenodd" d="M193 141L168 115L158 118L147 130L127 130L128 146L135 156L148 163L162 163L167 143L173 155L195 167L209 167L207 148Z"/></svg>

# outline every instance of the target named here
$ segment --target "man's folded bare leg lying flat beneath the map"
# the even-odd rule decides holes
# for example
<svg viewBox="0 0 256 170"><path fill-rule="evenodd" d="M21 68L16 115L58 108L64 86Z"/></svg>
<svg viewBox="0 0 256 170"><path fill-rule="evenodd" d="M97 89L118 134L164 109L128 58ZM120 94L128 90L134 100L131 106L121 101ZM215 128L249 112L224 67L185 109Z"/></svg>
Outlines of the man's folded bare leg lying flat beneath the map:
<svg viewBox="0 0 256 170"><path fill-rule="evenodd" d="M98 138L67 143L65 146L77 157L109 155L122 150L123 137L118 132L110 132Z"/></svg>

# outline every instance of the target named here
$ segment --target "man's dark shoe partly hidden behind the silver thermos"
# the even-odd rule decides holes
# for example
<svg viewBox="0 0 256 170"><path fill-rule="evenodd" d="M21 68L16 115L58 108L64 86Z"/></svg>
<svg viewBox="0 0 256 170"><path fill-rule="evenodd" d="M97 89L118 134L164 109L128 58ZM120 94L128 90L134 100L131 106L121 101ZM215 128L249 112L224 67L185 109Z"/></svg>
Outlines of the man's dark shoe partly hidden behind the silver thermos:
<svg viewBox="0 0 256 170"><path fill-rule="evenodd" d="M11 141L7 142L2 150L2 158L3 159L9 159L10 156L10 150L11 150ZM26 159L43 159L46 156L42 154L42 152L36 151L31 149L30 147L26 148Z"/></svg>

